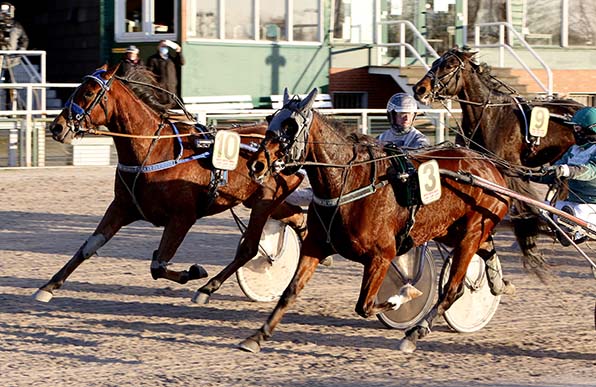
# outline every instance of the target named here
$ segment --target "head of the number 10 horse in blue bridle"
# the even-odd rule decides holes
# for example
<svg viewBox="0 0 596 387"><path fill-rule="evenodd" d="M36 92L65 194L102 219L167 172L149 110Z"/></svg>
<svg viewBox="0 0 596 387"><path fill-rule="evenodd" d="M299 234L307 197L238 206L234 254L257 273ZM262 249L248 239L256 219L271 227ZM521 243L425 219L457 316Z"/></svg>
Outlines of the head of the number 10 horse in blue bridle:
<svg viewBox="0 0 596 387"><path fill-rule="evenodd" d="M68 98L62 112L50 124L54 140L70 144L89 129L106 125L109 120L108 93L119 66L107 65L83 78Z"/></svg>

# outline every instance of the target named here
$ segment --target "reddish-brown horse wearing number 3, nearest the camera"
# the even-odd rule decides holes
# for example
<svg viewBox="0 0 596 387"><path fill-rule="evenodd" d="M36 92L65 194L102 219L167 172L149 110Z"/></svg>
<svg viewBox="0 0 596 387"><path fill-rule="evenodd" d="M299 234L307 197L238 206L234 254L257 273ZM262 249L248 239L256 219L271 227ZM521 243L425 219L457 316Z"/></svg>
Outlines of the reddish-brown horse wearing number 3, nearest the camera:
<svg viewBox="0 0 596 387"><path fill-rule="evenodd" d="M260 350L262 342L272 335L314 274L319 261L332 253L364 266L356 313L370 317L399 308L416 296L411 292L414 289L402 288L386 302L375 301L391 260L413 246L436 239L454 248L450 280L422 324L408 331L402 341L402 350L413 351L416 341L430 332L433 321L456 300L473 255L480 249L494 253L491 232L506 215L508 199L453 179L429 175L424 184L440 185L440 198L425 205L408 202L408 194L415 195L415 189L408 189L407 183L414 181L414 175L397 172L371 137L344 137L337 132L328 119L312 109L315 95L316 89L304 101L298 101L290 100L286 92L284 107L269 117L261 152L251 160L255 179L304 166L314 199L308 210L309 232L296 274L265 324L244 340L240 348ZM441 169L466 171L505 184L486 156L463 147L416 150L401 158L404 163L411 161L416 168L431 159ZM397 186L386 184L388 180L396 181Z"/></svg>

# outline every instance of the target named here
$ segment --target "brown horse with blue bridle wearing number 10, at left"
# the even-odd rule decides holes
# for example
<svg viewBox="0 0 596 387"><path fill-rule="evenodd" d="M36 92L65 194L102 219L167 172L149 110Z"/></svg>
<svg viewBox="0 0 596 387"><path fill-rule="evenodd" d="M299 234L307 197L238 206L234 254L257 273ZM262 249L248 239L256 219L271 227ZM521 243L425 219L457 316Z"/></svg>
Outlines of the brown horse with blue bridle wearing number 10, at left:
<svg viewBox="0 0 596 387"><path fill-rule="evenodd" d="M85 77L67 107L50 126L53 138L63 143L70 143L92 128L107 127L114 135L118 167L114 199L93 235L35 297L49 301L53 291L85 259L121 227L137 220L164 227L151 262L154 279L166 278L183 284L203 278L207 272L199 265L180 272L167 267L191 226L203 216L240 203L252 207L248 229L234 261L201 287L193 298L207 302L230 275L256 255L269 215L305 232L301 208L282 203L303 177L299 174L276 176L262 184L250 179L246 160L263 138L266 125L233 129L241 136L241 152L237 168L228 171L226 177L211 164L211 133L191 122L170 121L167 108L158 102L155 89L148 87L156 84L150 73L133 73L126 81L130 85L127 87L114 76L116 69L117 66L111 69L104 66ZM206 148L199 146L197 150L197 143L206 144Z"/></svg>

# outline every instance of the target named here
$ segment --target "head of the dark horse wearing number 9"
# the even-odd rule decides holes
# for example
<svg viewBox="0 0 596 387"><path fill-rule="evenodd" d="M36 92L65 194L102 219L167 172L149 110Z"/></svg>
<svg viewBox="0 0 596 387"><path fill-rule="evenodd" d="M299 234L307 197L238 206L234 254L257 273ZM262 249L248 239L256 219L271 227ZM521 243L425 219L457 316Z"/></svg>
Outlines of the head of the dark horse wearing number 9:
<svg viewBox="0 0 596 387"><path fill-rule="evenodd" d="M463 87L462 72L474 64L475 52L452 48L435 60L428 72L414 85L414 97L428 105L435 99L459 94Z"/></svg>

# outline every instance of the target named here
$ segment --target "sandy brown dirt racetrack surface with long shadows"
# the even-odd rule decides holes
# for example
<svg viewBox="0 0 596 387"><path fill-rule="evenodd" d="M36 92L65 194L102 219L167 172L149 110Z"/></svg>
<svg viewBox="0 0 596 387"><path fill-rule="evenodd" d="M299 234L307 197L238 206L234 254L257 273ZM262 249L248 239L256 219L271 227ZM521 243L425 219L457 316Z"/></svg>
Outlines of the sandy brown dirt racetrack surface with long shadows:
<svg viewBox="0 0 596 387"><path fill-rule="evenodd" d="M206 306L190 302L205 280L152 280L161 230L144 222L117 234L50 303L34 301L99 222L113 179L112 167L0 170L1 386L596 386L588 264L545 238L555 265L545 285L522 270L509 232L497 246L518 294L479 332L454 333L441 320L413 354L397 350L401 331L355 314L361 267L342 258L318 269L262 352L242 352L236 345L274 304L249 301L234 277ZM203 219L174 268L200 263L214 275L238 239L229 212Z"/></svg>

